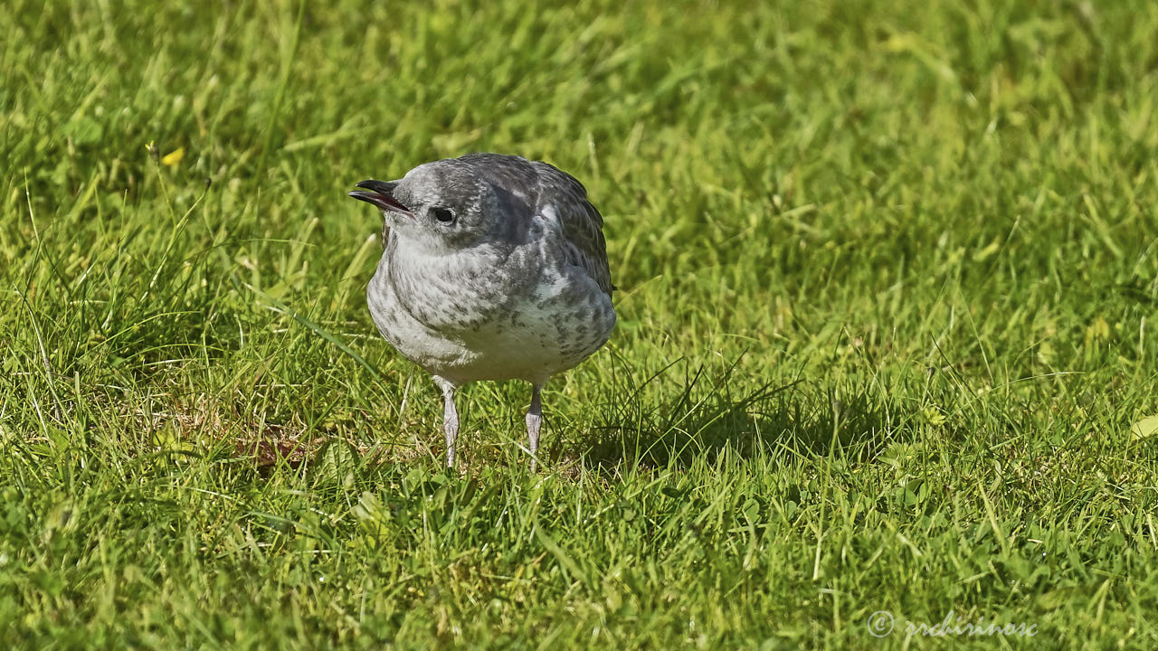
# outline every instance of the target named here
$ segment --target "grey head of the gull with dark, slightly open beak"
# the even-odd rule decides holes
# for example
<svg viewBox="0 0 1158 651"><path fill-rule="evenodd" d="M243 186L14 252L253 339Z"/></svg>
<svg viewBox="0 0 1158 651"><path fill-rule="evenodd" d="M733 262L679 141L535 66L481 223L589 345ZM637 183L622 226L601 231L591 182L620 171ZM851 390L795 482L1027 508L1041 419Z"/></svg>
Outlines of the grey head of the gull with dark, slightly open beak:
<svg viewBox="0 0 1158 651"><path fill-rule="evenodd" d="M362 181L350 196L382 211L386 225L409 246L449 253L477 242L498 221L498 198L468 163L420 164L398 181Z"/></svg>

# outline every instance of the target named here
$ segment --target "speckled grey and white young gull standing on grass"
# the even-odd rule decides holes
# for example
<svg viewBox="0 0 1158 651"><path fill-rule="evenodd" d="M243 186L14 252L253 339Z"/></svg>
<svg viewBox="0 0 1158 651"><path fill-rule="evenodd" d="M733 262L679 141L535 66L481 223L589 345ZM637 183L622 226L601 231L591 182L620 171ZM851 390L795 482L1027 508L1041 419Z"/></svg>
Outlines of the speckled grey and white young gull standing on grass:
<svg viewBox="0 0 1158 651"><path fill-rule="evenodd" d="M534 471L543 387L602 348L616 322L603 218L586 188L547 162L494 153L356 188L349 196L383 218L369 313L441 389L447 467L455 466L457 389L525 380Z"/></svg>

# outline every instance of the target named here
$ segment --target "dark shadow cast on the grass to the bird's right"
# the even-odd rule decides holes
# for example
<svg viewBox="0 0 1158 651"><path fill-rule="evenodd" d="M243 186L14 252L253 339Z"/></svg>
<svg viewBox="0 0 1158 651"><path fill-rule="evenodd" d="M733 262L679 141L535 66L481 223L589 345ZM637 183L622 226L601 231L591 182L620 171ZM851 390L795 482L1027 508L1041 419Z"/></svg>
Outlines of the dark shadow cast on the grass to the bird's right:
<svg viewBox="0 0 1158 651"><path fill-rule="evenodd" d="M654 374L609 411L613 418L579 436L582 462L607 469L686 467L697 458L713 462L724 451L742 458L761 449L827 455L834 447L848 460L866 462L895 439L904 418L868 381L816 386L797 379L735 395L733 383L752 385L731 381L738 361L714 376L703 367L686 373L670 400L643 395L652 382L670 385L675 364Z"/></svg>

